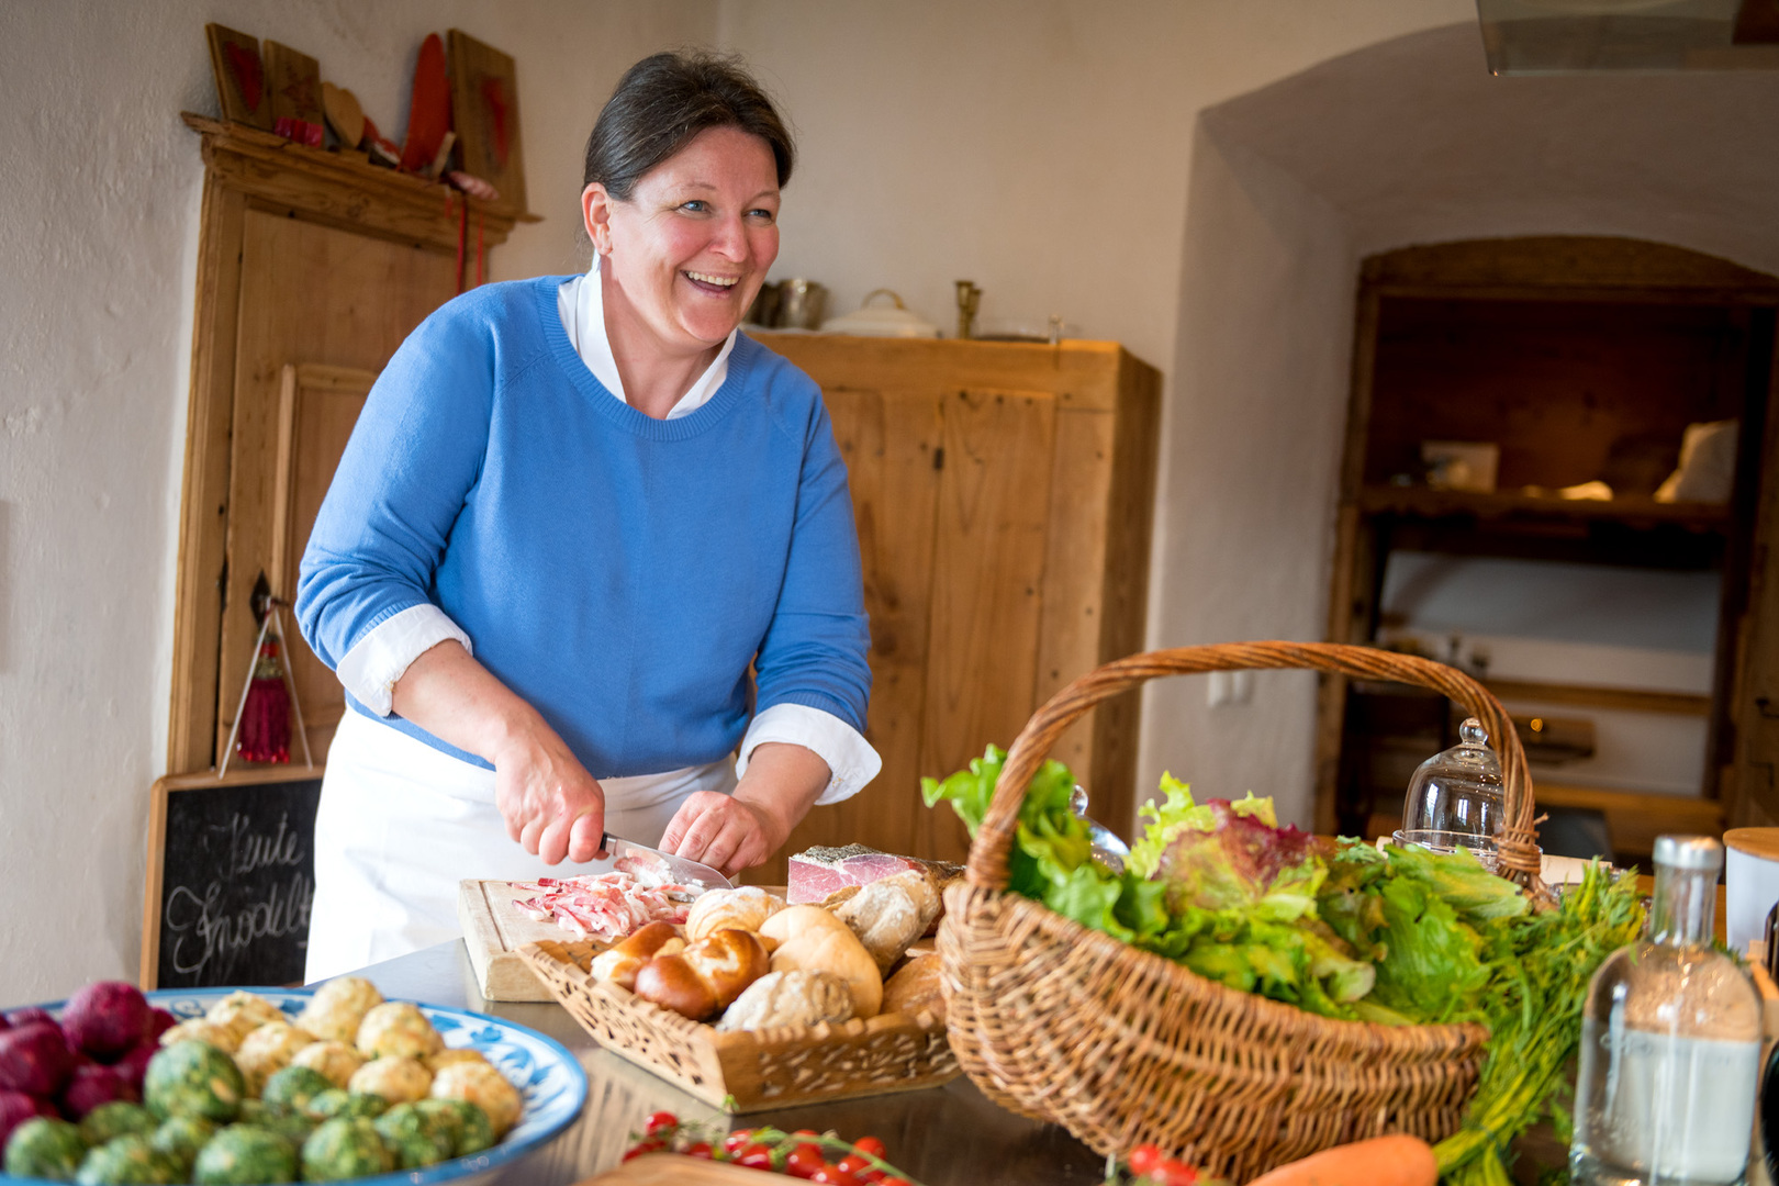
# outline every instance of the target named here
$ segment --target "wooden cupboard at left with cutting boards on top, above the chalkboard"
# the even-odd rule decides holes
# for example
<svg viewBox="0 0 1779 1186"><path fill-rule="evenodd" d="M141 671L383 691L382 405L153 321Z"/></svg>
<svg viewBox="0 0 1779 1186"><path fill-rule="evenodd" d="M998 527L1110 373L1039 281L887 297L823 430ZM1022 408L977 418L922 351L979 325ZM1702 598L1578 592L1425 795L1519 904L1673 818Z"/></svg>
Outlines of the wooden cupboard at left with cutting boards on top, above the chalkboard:
<svg viewBox="0 0 1779 1186"><path fill-rule="evenodd" d="M269 132L187 116L205 197L173 629L167 768L215 765L253 663L253 590L295 596L295 557L363 393L461 288L461 245L516 215ZM535 220L532 215L518 219ZM471 247L473 267L473 247ZM343 695L290 628L315 759Z"/></svg>

